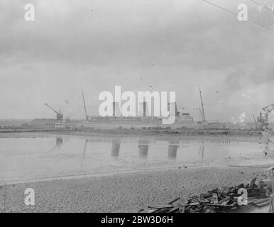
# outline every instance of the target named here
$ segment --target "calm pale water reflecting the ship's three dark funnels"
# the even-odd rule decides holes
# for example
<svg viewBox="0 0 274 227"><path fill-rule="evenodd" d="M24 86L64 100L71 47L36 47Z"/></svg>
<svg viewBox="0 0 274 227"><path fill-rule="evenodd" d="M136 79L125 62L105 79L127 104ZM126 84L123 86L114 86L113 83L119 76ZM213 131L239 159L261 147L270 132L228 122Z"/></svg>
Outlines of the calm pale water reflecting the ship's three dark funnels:
<svg viewBox="0 0 274 227"><path fill-rule="evenodd" d="M0 184L185 166L273 164L273 150L273 142L0 138Z"/></svg>

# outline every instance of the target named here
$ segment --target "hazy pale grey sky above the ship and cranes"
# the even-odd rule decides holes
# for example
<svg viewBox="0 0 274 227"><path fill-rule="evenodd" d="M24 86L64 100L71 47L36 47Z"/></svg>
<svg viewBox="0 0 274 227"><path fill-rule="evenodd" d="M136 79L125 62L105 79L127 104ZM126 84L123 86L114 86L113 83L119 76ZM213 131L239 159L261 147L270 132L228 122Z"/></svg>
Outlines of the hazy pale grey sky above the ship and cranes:
<svg viewBox="0 0 274 227"><path fill-rule="evenodd" d="M248 20L274 30L274 12L250 0L209 1L246 3ZM114 85L175 91L195 120L199 86L207 119L252 121L274 103L274 31L202 0L0 0L0 29L0 118L55 117L45 102L84 118L81 86L89 115Z"/></svg>

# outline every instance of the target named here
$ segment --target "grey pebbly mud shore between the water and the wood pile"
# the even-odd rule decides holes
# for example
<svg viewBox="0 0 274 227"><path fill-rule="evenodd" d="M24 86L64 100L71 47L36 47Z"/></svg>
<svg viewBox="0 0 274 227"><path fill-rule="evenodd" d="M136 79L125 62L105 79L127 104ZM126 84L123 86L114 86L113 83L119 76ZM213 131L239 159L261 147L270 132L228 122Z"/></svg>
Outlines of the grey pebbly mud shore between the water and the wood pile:
<svg viewBox="0 0 274 227"><path fill-rule="evenodd" d="M199 167L55 179L6 186L6 212L137 212L222 186L264 179L262 167ZM35 191L35 206L24 203L25 189ZM5 187L0 188L4 211Z"/></svg>

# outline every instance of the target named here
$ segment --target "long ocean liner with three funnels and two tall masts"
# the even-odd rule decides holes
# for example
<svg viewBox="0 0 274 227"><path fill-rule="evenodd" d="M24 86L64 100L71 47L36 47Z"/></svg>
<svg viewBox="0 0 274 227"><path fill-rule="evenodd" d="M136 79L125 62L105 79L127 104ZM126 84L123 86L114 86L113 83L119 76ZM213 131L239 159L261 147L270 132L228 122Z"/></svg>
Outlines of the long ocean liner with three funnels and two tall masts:
<svg viewBox="0 0 274 227"><path fill-rule="evenodd" d="M175 103L175 123L163 125L161 117L148 116L146 102L143 102L143 110L141 116L124 117L116 116L116 103L113 103L113 116L88 116L87 108L84 101L84 93L82 91L84 111L86 114L85 120L63 120L55 123L55 128L90 128L90 129L198 129L198 128L223 128L221 123L209 122L205 120L204 104L202 101L202 92L200 90L200 99L202 109L199 108L202 121L194 121L189 113L180 113L177 111Z"/></svg>

